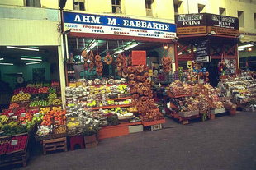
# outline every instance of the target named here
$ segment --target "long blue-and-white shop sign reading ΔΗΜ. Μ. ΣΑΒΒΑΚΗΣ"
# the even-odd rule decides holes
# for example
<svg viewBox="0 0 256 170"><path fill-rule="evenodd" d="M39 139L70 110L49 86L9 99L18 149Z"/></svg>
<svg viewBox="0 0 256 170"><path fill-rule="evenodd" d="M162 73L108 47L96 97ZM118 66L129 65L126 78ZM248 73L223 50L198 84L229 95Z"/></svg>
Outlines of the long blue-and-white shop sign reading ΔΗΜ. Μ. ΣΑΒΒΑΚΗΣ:
<svg viewBox="0 0 256 170"><path fill-rule="evenodd" d="M63 12L64 30L75 33L113 34L158 39L176 37L176 25L119 16Z"/></svg>

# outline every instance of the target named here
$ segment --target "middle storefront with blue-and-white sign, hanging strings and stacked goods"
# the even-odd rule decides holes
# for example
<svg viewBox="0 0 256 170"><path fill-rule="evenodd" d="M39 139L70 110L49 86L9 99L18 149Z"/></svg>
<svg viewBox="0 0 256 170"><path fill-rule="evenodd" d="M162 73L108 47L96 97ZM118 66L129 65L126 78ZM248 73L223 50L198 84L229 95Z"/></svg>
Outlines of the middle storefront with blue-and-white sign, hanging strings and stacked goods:
<svg viewBox="0 0 256 170"><path fill-rule="evenodd" d="M86 108L87 116L101 117L100 126L104 127L99 131L100 139L126 135L133 125L161 125L164 118L154 105L151 82L153 70L167 75L175 70L176 25L68 11L63 16L64 30L69 32L65 63L67 114L81 115L78 110ZM73 96L78 89L82 91ZM111 126L115 121L109 119L121 124Z"/></svg>

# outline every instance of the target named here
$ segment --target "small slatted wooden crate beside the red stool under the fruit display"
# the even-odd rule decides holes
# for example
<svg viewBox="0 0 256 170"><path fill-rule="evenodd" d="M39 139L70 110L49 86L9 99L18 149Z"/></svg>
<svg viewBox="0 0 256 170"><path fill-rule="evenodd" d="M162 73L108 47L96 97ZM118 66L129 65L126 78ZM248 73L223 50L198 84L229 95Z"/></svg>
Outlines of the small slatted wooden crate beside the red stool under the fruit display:
<svg viewBox="0 0 256 170"><path fill-rule="evenodd" d="M53 140L43 140L44 154L46 154L48 151L55 151L59 149L64 149L64 151L68 151L66 137L57 138Z"/></svg>

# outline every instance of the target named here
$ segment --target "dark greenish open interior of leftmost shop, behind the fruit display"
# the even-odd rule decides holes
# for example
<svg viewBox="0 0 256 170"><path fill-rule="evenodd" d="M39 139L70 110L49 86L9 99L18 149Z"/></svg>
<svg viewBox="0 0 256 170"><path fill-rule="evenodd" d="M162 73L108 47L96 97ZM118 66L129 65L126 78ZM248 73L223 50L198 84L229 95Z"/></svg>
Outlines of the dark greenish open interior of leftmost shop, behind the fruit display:
<svg viewBox="0 0 256 170"><path fill-rule="evenodd" d="M7 108L9 103L14 102L11 99L13 90L33 94L27 87L40 88L51 85L56 85L59 90L58 48L1 46L0 72L1 108Z"/></svg>

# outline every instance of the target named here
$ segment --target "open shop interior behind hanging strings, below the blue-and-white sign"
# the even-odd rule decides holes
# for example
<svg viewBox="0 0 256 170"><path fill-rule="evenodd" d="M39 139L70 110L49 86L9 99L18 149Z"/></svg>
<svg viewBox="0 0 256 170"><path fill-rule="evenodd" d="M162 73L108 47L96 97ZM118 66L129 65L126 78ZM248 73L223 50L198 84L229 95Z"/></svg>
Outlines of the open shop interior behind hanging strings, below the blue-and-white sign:
<svg viewBox="0 0 256 170"><path fill-rule="evenodd" d="M84 78L86 80L93 80L95 78L112 77L114 79L120 79L116 67L116 57L118 54L124 55L127 58L132 57L132 51L145 51L146 64L150 69L160 69L160 59L164 56L173 56L171 51L173 49L171 44L148 42L148 41L135 41L125 39L85 39L69 37L69 59L66 67L67 80L78 80ZM88 69L84 67L84 59L81 56L81 52L85 50L88 55L90 51L94 55L100 55L102 57L103 71L102 76L97 76L95 69ZM104 62L104 58L110 54L113 57L113 62L107 65ZM70 59L73 58L71 61ZM74 65L70 64L74 62ZM130 63L131 64L131 63ZM89 63L87 64L89 67ZM74 74L73 74L73 72Z"/></svg>

